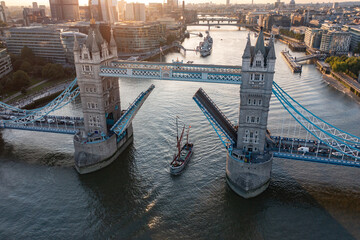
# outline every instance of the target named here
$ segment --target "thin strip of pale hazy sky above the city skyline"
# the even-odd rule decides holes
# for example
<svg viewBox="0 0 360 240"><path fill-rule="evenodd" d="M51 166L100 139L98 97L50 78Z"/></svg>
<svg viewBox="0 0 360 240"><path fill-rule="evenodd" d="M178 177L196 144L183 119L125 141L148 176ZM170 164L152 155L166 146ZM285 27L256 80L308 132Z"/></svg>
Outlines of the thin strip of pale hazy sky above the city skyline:
<svg viewBox="0 0 360 240"><path fill-rule="evenodd" d="M17 5L17 6L27 6L27 5L31 5L32 2L37 2L39 5L49 5L49 0L4 0L6 5ZM182 0L179 0L179 2ZM185 3L204 3L204 2L213 2L213 3L224 3L226 2L226 0L185 0ZM282 2L285 3L289 3L290 0L281 0ZM346 1L341 1L341 0L336 0L336 2L347 2L349 0ZM351 1L351 0L350 0ZM358 0L356 0L358 1ZM162 3L163 0L126 0L126 2L141 2L141 3L149 3L149 2L159 2ZM233 3L251 3L251 0L230 0L230 2ZM254 3L273 3L275 2L275 0L254 0ZM317 1L317 0L295 0L295 3L317 3L317 2L333 2L333 0L329 1ZM88 0L79 0L79 4L80 5L87 5Z"/></svg>

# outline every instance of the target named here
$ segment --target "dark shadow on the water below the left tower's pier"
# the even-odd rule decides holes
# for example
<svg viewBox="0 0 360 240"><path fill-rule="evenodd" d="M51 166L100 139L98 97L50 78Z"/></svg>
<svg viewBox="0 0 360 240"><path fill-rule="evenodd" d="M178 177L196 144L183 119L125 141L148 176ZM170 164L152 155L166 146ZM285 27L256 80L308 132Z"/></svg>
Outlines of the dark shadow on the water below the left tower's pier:
<svg viewBox="0 0 360 240"><path fill-rule="evenodd" d="M88 218L91 232L86 233L87 237L129 239L147 232L146 206L154 196L147 191L147 183L137 173L135 152L131 144L110 166L79 175L82 186L89 193L89 205L93 206Z"/></svg>

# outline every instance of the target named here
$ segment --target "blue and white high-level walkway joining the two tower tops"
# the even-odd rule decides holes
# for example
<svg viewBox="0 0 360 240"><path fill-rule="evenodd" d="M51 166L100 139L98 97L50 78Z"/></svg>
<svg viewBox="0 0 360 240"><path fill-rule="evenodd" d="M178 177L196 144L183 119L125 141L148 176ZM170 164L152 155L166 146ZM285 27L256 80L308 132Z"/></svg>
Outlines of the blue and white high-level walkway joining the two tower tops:
<svg viewBox="0 0 360 240"><path fill-rule="evenodd" d="M241 67L182 62L115 61L110 66L101 66L100 76L241 84Z"/></svg>

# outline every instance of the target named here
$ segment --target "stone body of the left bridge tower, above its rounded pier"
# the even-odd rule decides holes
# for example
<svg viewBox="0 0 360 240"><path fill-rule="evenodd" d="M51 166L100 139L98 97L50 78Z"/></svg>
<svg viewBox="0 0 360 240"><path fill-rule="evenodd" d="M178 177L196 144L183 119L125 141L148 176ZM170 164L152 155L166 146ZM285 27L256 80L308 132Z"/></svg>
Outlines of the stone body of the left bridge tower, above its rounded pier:
<svg viewBox="0 0 360 240"><path fill-rule="evenodd" d="M91 35L90 35L91 34ZM85 132L82 138L93 141L108 136L108 125L121 115L117 78L101 77L100 66L117 60L117 48L112 36L108 44L96 26L92 26L86 44L74 44L74 61L84 114Z"/></svg>

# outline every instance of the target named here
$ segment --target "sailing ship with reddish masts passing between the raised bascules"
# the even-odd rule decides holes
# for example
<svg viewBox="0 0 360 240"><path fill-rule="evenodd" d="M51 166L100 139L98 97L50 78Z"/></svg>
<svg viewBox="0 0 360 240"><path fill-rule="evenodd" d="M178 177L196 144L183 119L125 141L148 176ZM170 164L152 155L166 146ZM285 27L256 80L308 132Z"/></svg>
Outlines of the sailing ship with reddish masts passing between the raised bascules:
<svg viewBox="0 0 360 240"><path fill-rule="evenodd" d="M186 164L190 161L190 158L193 154L194 144L189 142L189 131L191 126L187 129L186 134L186 143L182 145L182 139L184 136L185 125L181 131L181 135L179 137L178 130L178 120L176 118L176 143L177 143L177 152L174 154L173 160L170 163L170 173L173 175L178 175L185 168ZM182 147L181 147L182 146Z"/></svg>

